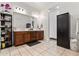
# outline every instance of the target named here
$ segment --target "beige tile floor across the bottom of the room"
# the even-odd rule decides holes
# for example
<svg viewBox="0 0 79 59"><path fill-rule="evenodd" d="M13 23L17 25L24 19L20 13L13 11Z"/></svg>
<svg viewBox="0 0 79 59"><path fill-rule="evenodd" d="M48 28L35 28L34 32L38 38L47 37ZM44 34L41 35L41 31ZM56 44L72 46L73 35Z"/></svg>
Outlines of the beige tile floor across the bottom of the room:
<svg viewBox="0 0 79 59"><path fill-rule="evenodd" d="M0 50L0 56L78 56L79 52L56 45L55 40L43 40L34 46L27 44Z"/></svg>

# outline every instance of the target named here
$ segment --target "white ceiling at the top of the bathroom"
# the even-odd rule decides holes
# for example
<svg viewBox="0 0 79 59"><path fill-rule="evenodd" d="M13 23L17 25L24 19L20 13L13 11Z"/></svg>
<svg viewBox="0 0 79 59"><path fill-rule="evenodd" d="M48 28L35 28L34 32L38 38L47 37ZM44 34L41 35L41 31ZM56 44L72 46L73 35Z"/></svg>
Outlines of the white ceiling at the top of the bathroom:
<svg viewBox="0 0 79 59"><path fill-rule="evenodd" d="M48 10L57 5L57 2L25 2L25 4L38 9L39 11Z"/></svg>

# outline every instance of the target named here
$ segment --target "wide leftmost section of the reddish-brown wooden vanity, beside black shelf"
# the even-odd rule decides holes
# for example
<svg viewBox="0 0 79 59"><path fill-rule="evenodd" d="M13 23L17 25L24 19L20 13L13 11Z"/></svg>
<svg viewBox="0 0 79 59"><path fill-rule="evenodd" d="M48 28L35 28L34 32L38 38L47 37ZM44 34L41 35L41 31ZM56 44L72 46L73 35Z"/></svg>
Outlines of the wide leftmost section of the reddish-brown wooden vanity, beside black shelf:
<svg viewBox="0 0 79 59"><path fill-rule="evenodd" d="M14 45L24 44L24 32L14 32Z"/></svg>

